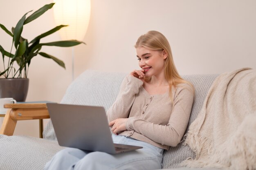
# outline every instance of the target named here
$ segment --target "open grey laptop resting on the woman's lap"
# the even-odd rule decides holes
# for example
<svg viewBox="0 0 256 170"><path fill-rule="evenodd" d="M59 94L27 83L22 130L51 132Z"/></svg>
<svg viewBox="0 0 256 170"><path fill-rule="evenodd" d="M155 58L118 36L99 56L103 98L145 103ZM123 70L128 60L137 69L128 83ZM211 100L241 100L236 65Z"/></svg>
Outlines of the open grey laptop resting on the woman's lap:
<svg viewBox="0 0 256 170"><path fill-rule="evenodd" d="M60 146L110 154L142 148L113 143L103 107L57 103L46 105Z"/></svg>

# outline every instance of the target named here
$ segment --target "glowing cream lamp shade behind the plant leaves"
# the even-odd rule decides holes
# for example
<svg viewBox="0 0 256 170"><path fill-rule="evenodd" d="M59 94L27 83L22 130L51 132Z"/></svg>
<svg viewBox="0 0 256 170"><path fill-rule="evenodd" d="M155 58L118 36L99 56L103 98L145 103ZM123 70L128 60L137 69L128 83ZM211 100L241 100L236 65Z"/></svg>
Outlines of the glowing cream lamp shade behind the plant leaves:
<svg viewBox="0 0 256 170"><path fill-rule="evenodd" d="M58 31L61 39L83 41L90 20L90 0L54 0L54 3L56 24L69 25Z"/></svg>

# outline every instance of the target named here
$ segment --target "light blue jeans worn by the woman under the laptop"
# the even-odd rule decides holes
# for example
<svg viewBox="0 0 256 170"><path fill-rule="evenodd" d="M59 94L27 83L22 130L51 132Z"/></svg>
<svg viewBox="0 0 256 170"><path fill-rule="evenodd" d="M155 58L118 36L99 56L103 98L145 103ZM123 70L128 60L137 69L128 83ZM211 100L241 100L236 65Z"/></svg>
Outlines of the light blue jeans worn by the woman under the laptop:
<svg viewBox="0 0 256 170"><path fill-rule="evenodd" d="M112 135L114 143L142 149L111 155L66 148L45 165L45 170L155 170L162 168L163 149L130 137Z"/></svg>

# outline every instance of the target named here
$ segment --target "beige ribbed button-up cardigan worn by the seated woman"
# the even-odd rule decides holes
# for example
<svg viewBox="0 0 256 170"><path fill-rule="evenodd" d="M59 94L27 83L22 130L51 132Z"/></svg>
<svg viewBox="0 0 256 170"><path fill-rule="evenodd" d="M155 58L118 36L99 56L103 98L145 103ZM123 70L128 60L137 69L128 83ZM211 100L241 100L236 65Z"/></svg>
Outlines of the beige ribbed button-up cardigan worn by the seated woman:
<svg viewBox="0 0 256 170"><path fill-rule="evenodd" d="M136 77L126 76L119 95L108 109L108 121L129 118L125 130L119 135L132 137L168 150L180 143L189 122L193 104L193 91L188 84L169 93L150 95Z"/></svg>

